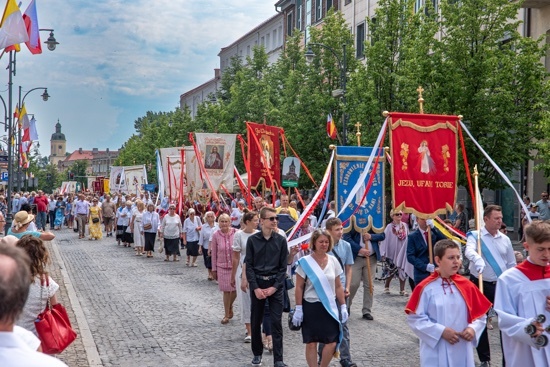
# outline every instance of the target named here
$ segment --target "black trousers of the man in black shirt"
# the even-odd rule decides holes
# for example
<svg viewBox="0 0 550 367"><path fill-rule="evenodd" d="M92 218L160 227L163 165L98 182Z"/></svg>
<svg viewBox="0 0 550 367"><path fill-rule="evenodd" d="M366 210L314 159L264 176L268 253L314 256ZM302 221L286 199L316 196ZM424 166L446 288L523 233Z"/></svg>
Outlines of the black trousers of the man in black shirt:
<svg viewBox="0 0 550 367"><path fill-rule="evenodd" d="M258 286L262 289L273 286L275 280L258 279ZM264 318L264 307L267 301L271 319L271 337L273 339L273 362L283 360L283 288L277 289L267 299L258 299L254 291L250 291L250 328L252 331L252 353L261 356L264 351L262 343L262 320Z"/></svg>

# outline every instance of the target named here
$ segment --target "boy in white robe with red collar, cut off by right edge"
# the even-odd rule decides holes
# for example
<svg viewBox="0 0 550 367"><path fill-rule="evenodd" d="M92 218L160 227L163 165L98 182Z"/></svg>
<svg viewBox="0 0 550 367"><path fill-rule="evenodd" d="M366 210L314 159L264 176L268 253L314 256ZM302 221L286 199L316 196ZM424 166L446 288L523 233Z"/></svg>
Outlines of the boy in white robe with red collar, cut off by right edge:
<svg viewBox="0 0 550 367"><path fill-rule="evenodd" d="M497 282L495 311L502 332L502 347L507 366L550 366L550 346L539 348L535 338L545 334L550 324L550 223L533 221L524 229L529 251L527 260L506 270ZM546 316L546 324L535 322ZM534 335L525 327L533 324Z"/></svg>

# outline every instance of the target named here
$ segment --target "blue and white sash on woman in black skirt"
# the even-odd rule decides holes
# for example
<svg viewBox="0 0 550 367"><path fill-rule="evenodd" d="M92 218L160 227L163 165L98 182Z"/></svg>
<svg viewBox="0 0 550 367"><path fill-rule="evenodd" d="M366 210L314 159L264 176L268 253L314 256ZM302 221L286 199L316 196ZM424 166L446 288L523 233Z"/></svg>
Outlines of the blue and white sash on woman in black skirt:
<svg viewBox="0 0 550 367"><path fill-rule="evenodd" d="M298 264L302 267L304 273L306 273L306 276L311 280L311 284L313 284L313 288L315 288L315 292L327 312L330 316L332 316L332 318L338 321L340 328L340 336L338 339L338 345L336 346L336 350L338 351L338 347L342 341L343 330L338 313L338 306L336 305L336 295L328 283L327 276L319 264L317 264L317 261L311 257L311 255L300 258L300 260L298 260Z"/></svg>

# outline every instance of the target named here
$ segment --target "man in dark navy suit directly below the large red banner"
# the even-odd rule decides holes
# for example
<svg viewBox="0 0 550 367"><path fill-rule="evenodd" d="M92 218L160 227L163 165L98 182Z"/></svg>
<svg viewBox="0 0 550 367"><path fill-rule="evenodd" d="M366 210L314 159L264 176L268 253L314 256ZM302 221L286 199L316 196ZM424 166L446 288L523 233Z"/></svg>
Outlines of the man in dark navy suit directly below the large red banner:
<svg viewBox="0 0 550 367"><path fill-rule="evenodd" d="M432 249L437 241L445 239L443 233L433 228L433 224L428 226L426 219L417 217L416 221L418 229L407 238L407 260L414 266L414 284L420 283L435 270L435 265L430 264L429 258L428 227L432 227Z"/></svg>

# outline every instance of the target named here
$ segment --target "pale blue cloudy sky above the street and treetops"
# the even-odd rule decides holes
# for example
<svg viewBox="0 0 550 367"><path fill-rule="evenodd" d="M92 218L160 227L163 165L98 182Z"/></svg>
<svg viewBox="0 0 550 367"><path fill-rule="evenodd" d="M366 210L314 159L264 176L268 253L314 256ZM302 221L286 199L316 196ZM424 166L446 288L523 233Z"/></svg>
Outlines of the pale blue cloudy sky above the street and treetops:
<svg viewBox="0 0 550 367"><path fill-rule="evenodd" d="M21 12L30 0L21 1ZM6 0L0 0L2 6ZM16 57L13 105L19 86L35 114L42 156L59 120L67 152L119 149L147 111L169 112L179 96L214 77L217 56L275 15L276 0L36 0L40 28L53 28L55 51L42 44ZM19 3L19 1L18 1ZM49 32L40 32L44 42ZM0 59L0 70L8 66ZM8 71L0 95L8 103Z"/></svg>

